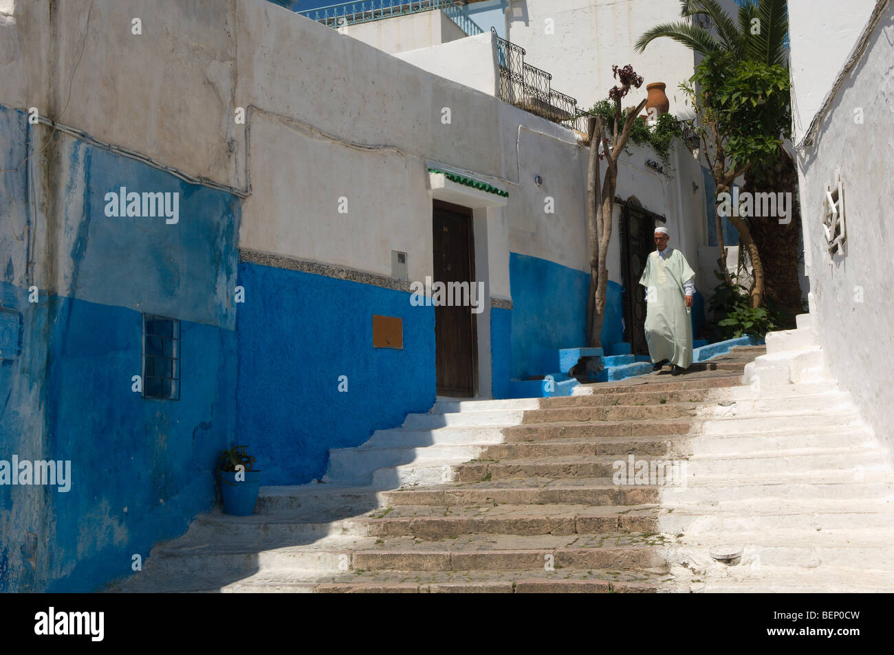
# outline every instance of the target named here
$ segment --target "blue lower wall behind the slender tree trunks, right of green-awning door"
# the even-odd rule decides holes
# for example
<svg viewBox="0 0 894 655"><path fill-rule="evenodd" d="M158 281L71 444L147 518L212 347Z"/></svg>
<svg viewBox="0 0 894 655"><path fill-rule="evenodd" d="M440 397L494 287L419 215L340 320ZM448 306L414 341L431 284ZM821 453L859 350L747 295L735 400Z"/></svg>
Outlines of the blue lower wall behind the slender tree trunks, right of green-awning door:
<svg viewBox="0 0 894 655"><path fill-rule="evenodd" d="M586 345L587 273L538 257L510 253L513 379L559 373L541 370L544 349ZM603 345L623 340L620 284L609 281ZM563 372L567 373L567 372Z"/></svg>

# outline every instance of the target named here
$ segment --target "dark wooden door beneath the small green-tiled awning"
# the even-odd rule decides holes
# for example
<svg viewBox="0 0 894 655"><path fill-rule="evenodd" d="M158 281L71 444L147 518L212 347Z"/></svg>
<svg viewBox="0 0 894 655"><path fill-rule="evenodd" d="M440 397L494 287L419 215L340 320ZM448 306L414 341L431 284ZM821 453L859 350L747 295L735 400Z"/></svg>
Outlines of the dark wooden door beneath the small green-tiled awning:
<svg viewBox="0 0 894 655"><path fill-rule="evenodd" d="M435 201L433 221L435 282L475 279L471 210ZM445 293L445 298L447 294ZM453 294L451 294L452 296ZM480 299L481 302L484 298ZM434 344L437 390L444 396L474 396L477 373L477 334L472 307L435 306Z"/></svg>

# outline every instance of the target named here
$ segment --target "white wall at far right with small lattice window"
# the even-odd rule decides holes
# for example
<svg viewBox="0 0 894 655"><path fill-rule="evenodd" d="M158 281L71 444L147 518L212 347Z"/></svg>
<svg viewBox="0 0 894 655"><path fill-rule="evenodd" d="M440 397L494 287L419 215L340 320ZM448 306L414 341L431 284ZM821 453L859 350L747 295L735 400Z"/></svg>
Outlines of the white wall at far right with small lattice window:
<svg viewBox="0 0 894 655"><path fill-rule="evenodd" d="M806 3L804 3L806 4ZM792 58L797 62L796 102L804 109L829 88L810 88L806 80L824 80L830 63L816 50L819 42L836 38L822 11L793 3ZM815 4L811 3L813 8ZM859 4L862 9L862 3ZM826 7L828 8L828 7ZM850 19L845 19L846 27ZM848 27L848 35L852 34ZM856 40L856 36L855 39ZM894 347L894 304L891 298L890 244L894 243L894 113L890 84L894 77L894 5L889 4L874 29L864 55L848 74L834 97L831 112L822 121L814 147L798 153L801 212L811 286L811 313L831 373L856 400L864 419L889 449L894 448L890 427L894 407L894 373L890 352ZM836 46L837 48L837 46ZM849 48L848 48L849 49ZM842 62L843 63L843 62ZM838 74L838 70L829 78ZM854 122L854 109L862 107L864 123ZM846 255L831 257L822 231L824 185L834 181L840 168L844 181L847 220ZM862 290L863 301L859 301Z"/></svg>

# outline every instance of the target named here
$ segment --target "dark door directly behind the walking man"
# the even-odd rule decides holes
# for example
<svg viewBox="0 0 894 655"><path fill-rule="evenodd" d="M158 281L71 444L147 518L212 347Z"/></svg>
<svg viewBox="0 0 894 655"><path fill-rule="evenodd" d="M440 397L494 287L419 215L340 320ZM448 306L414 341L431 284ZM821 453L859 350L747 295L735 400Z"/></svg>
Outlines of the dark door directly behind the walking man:
<svg viewBox="0 0 894 655"><path fill-rule="evenodd" d="M634 355L648 355L645 341L645 287L639 278L645 270L645 259L655 249L654 228L657 214L624 206L620 215L621 276L624 284L624 340Z"/></svg>

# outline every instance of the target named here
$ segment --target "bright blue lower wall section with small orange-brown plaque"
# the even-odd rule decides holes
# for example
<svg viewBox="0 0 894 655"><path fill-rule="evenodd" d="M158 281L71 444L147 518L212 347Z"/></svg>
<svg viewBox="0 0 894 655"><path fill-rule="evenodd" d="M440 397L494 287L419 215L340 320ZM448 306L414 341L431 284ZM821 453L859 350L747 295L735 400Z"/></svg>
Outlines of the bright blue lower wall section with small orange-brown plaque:
<svg viewBox="0 0 894 655"><path fill-rule="evenodd" d="M358 446L434 405L434 307L412 307L403 291L245 262L239 280L237 441L256 454L264 484L320 478L329 449ZM373 348L374 314L403 319L402 350Z"/></svg>

